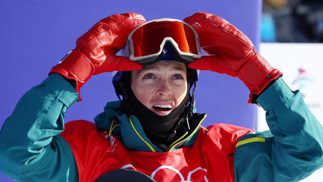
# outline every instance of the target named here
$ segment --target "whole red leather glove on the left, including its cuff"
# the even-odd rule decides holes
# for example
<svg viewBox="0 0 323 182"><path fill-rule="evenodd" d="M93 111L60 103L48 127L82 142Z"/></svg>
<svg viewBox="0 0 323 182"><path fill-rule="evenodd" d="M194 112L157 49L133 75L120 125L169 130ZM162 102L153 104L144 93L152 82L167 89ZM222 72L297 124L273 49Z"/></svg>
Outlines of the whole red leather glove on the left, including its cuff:
<svg viewBox="0 0 323 182"><path fill-rule="evenodd" d="M92 75L142 69L142 65L115 54L125 47L128 34L136 25L144 22L144 16L133 12L115 14L100 20L77 40L76 48L54 66L49 74L56 72L74 80L81 101L80 88Z"/></svg>

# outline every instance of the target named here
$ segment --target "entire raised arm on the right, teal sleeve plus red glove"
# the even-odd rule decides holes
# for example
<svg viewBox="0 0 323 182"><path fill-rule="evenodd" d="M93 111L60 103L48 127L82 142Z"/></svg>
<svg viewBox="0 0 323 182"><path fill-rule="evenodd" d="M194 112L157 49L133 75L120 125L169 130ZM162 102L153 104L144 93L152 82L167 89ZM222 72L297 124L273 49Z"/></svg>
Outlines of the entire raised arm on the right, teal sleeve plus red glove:
<svg viewBox="0 0 323 182"><path fill-rule="evenodd" d="M190 68L238 77L250 90L249 103L266 111L270 132L248 134L235 153L237 182L285 182L322 167L323 129L282 73L255 51L251 41L225 19L205 12L184 19L199 34L204 56Z"/></svg>

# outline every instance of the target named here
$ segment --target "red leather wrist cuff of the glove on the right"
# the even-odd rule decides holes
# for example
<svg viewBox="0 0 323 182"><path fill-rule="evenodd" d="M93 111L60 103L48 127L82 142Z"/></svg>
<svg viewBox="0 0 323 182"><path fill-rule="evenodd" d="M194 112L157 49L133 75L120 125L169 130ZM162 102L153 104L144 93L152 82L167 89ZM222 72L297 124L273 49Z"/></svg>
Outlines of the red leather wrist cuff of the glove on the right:
<svg viewBox="0 0 323 182"><path fill-rule="evenodd" d="M278 69L270 66L270 64L258 53L241 68L239 79L249 89L250 95L248 103L251 103L252 95L260 94L267 85L282 76L283 73Z"/></svg>

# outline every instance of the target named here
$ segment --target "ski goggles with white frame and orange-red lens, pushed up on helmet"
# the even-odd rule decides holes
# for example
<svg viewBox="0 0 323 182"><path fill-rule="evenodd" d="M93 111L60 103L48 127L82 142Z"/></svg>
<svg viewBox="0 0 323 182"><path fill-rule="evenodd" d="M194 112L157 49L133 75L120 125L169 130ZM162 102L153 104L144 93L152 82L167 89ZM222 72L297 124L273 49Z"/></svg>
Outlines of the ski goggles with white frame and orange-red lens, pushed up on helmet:
<svg viewBox="0 0 323 182"><path fill-rule="evenodd" d="M201 57L199 37L192 26L178 19L161 18L141 24L129 34L129 59L140 64L154 62L168 43L185 63Z"/></svg>

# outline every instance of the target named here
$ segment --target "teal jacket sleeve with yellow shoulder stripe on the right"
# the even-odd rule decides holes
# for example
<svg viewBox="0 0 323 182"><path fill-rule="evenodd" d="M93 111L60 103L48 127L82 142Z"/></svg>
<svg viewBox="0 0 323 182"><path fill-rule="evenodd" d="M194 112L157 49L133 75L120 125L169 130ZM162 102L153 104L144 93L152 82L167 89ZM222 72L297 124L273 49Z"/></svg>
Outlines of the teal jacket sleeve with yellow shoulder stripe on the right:
<svg viewBox="0 0 323 182"><path fill-rule="evenodd" d="M323 166L323 128L299 91L278 79L257 99L270 131L242 137L236 182L294 182Z"/></svg>

